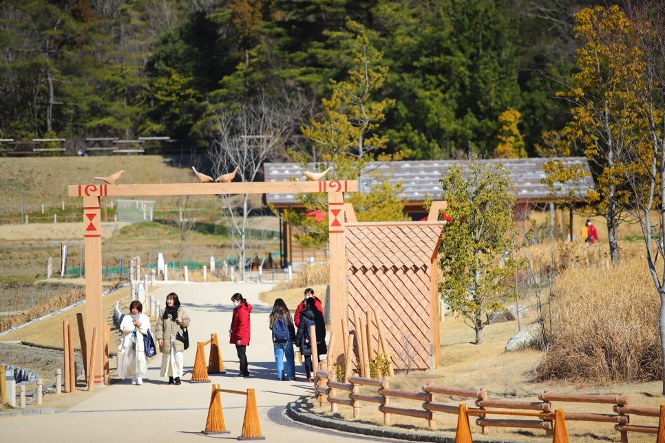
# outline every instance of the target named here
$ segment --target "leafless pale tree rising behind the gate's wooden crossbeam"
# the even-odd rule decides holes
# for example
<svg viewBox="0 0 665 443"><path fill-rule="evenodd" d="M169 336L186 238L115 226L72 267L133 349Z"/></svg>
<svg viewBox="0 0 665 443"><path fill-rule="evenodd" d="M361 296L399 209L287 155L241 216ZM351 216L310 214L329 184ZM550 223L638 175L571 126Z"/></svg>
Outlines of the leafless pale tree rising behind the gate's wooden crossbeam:
<svg viewBox="0 0 665 443"><path fill-rule="evenodd" d="M229 106L222 107L215 117L219 135L211 151L213 173L231 173L237 167L235 181L260 179L264 162L284 149L284 141L293 133L294 118L299 114L299 105L263 94L244 103L237 111ZM231 237L240 249L240 272L245 280L247 219L254 208L249 205L249 194L240 199L234 199L233 195L219 197L234 233Z"/></svg>

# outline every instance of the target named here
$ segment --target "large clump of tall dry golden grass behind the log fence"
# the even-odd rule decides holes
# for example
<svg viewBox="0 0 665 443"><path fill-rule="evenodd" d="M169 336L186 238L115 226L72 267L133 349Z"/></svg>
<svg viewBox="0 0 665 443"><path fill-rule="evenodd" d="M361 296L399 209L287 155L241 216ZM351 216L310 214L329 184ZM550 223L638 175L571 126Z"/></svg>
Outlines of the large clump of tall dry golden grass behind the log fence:
<svg viewBox="0 0 665 443"><path fill-rule="evenodd" d="M662 378L660 300L644 259L569 268L552 296L539 380L599 385Z"/></svg>

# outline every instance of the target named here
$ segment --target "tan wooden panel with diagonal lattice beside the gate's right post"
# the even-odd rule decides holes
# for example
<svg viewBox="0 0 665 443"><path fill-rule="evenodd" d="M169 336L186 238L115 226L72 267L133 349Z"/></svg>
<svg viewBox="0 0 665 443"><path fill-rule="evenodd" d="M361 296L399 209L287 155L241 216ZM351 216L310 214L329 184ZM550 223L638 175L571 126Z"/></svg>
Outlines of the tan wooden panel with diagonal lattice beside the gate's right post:
<svg viewBox="0 0 665 443"><path fill-rule="evenodd" d="M443 205L432 208L427 222L348 220L346 224L349 329L355 329L354 312L362 318L368 310L379 312L387 352L394 355L398 369L407 365L407 341L412 347L412 369L430 367L430 343L434 344L434 367L439 361L436 258L445 222L436 219ZM372 345L378 349L376 324L373 329Z"/></svg>

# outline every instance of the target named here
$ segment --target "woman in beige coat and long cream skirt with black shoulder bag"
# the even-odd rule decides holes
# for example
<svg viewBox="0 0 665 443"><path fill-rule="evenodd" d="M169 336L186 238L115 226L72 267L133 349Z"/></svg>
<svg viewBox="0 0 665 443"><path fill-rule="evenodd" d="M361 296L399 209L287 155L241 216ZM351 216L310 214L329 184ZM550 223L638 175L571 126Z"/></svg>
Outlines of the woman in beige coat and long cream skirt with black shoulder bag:
<svg viewBox="0 0 665 443"><path fill-rule="evenodd" d="M189 326L189 316L180 307L180 300L175 292L167 295L167 306L160 312L155 327L155 337L162 353L162 371L160 376L169 377L169 385L180 385L182 377L182 352L184 343L182 334ZM178 338L180 336L180 338Z"/></svg>

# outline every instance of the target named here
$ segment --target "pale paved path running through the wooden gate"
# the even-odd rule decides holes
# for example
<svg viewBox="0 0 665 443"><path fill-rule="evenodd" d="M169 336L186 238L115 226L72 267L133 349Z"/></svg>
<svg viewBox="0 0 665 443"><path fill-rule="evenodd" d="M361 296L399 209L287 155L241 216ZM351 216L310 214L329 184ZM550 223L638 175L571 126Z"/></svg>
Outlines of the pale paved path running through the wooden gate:
<svg viewBox="0 0 665 443"><path fill-rule="evenodd" d="M184 366L189 372L180 386L167 385L160 378L161 356L149 365L149 379L142 386L131 386L123 380L101 389L69 411L37 417L7 418L0 421L0 440L3 442L205 442L209 439L236 440L242 431L246 397L222 393L222 410L228 435L201 435L205 428L210 402L211 384L192 383L191 369L196 355L196 342L207 341L211 333L220 338L222 359L227 373L211 375L213 383L222 388L256 389L261 430L266 442L357 442L366 436L347 437L330 431L318 431L307 426L288 426L268 419L268 411L284 407L287 402L311 392L312 384L304 381L276 380L275 358L268 329L268 314L272 306L260 303L258 294L271 285L259 283L195 283L162 285L153 292L162 306L169 292L176 292L191 318L189 339L191 347L184 352ZM235 346L229 344L231 324L231 295L240 292L253 305L252 335L247 348L251 378L233 378L238 361ZM154 331L154 325L152 327ZM208 356L206 347L206 356ZM302 371L302 367L296 367ZM302 372L296 374L304 380ZM66 395L66 394L65 394ZM274 413L274 411L273 411ZM373 439L369 439L373 440ZM385 440L384 440L385 441Z"/></svg>

